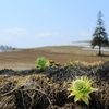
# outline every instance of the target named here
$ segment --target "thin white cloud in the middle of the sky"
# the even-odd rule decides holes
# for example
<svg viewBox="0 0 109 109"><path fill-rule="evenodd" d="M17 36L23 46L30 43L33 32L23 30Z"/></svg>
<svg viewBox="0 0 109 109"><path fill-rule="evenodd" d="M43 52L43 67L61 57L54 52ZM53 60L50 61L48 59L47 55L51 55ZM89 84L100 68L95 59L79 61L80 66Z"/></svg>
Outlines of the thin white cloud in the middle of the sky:
<svg viewBox="0 0 109 109"><path fill-rule="evenodd" d="M38 34L36 34L36 36L38 36L38 37L49 37L49 36L52 36L52 37L64 37L60 33L48 33L48 32L38 33Z"/></svg>

